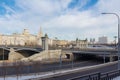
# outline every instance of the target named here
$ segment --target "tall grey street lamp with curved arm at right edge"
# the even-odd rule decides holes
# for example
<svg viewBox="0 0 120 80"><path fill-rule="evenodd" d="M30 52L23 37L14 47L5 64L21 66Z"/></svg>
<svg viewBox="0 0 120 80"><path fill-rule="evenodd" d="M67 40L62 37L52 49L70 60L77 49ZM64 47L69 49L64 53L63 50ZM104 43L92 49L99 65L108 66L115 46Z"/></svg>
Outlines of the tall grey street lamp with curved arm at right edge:
<svg viewBox="0 0 120 80"><path fill-rule="evenodd" d="M112 15L115 15L118 19L118 70L119 70L119 67L120 67L120 32L119 32L119 29L120 29L120 17L118 14L116 13L101 13L101 14L112 14Z"/></svg>

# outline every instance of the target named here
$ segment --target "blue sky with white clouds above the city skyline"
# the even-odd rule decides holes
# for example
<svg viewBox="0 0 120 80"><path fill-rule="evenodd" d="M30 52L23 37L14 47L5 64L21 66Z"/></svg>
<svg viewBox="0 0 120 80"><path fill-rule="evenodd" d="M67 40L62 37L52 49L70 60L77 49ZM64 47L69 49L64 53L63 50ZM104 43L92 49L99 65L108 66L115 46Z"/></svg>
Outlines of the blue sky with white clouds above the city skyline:
<svg viewBox="0 0 120 80"><path fill-rule="evenodd" d="M0 34L29 29L63 40L117 36L120 0L0 0Z"/></svg>

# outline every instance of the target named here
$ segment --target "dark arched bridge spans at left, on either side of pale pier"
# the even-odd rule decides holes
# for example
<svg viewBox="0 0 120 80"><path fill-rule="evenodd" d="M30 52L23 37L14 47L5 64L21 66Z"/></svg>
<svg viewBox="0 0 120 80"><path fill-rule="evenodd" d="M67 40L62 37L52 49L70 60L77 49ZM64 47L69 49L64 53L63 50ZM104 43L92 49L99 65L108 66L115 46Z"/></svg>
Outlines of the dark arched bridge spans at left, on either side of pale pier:
<svg viewBox="0 0 120 80"><path fill-rule="evenodd" d="M42 51L42 48L30 48L30 47L0 47L0 60L8 60L10 48L14 49L14 51L19 53L24 57L32 56L33 54L37 54Z"/></svg>

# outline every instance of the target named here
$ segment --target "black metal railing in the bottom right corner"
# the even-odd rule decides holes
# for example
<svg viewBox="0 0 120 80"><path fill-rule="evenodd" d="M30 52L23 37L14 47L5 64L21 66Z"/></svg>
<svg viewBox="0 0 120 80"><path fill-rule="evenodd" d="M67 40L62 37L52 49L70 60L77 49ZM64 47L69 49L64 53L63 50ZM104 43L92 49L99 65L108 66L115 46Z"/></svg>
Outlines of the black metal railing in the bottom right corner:
<svg viewBox="0 0 120 80"><path fill-rule="evenodd" d="M110 71L107 73L92 73L83 76L73 77L67 80L113 80L115 77L120 76L120 70Z"/></svg>

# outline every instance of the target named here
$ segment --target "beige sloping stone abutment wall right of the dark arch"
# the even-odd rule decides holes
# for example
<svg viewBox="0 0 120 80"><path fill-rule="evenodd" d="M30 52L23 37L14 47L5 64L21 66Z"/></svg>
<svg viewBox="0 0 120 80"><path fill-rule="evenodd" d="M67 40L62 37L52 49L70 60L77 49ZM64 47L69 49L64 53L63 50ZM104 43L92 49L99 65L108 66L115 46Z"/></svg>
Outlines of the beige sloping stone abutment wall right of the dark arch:
<svg viewBox="0 0 120 80"><path fill-rule="evenodd" d="M37 60L48 60L48 59L59 59L62 54L62 58L65 58L66 55L62 53L61 50L45 50L38 54L34 54L28 58L23 58L24 61L37 61Z"/></svg>

